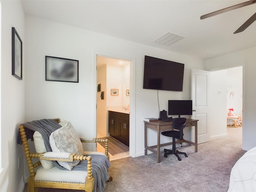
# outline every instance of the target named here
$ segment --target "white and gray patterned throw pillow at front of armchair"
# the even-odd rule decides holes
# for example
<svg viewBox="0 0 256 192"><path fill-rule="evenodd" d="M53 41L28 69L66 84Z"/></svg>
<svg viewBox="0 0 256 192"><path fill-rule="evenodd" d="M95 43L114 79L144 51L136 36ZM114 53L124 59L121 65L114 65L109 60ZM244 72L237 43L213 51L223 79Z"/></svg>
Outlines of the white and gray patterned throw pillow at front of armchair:
<svg viewBox="0 0 256 192"><path fill-rule="evenodd" d="M80 138L70 122L67 122L64 126L52 132L49 140L53 152L75 153L76 155L83 154L83 146ZM58 161L60 166L68 170L72 170L79 162L79 160L73 162Z"/></svg>

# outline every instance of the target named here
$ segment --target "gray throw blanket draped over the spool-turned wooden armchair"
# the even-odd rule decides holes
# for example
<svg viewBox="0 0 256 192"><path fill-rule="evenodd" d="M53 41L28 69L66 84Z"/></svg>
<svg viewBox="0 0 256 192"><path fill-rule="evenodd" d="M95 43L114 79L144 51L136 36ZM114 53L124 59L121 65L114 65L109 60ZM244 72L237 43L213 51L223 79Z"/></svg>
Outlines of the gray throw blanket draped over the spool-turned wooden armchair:
<svg viewBox="0 0 256 192"><path fill-rule="evenodd" d="M26 134L29 133L29 138L35 131L40 132L42 138L44 139L44 145L47 152L51 152L52 148L50 146L49 137L52 132L61 128L61 125L52 119L42 119L32 122L26 122L22 124L25 127ZM32 133L29 130L32 130ZM20 138L20 137L19 137ZM21 140L18 139L18 144L22 144ZM94 177L94 192L102 192L106 187L106 181L109 179L108 168L110 167L110 162L108 158L103 155L92 154L92 176ZM67 170L66 168L60 166L57 161L52 161L54 166L60 170ZM77 166L73 168L74 171L87 171L87 160L80 161ZM98 190L97 190L98 189Z"/></svg>

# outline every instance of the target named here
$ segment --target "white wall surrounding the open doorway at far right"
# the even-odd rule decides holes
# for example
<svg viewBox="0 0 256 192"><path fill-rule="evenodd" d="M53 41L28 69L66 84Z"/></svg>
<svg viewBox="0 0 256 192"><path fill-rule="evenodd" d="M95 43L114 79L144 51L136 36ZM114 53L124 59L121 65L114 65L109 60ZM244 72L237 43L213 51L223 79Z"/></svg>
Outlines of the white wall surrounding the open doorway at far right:
<svg viewBox="0 0 256 192"><path fill-rule="evenodd" d="M256 47L206 60L206 70L243 66L243 144L244 150L256 146Z"/></svg>

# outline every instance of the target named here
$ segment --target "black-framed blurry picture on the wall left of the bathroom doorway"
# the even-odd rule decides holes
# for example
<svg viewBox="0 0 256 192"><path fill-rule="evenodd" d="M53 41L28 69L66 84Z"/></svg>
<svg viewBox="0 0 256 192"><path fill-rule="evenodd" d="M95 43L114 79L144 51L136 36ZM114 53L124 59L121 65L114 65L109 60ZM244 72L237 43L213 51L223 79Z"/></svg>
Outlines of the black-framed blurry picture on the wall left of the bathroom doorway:
<svg viewBox="0 0 256 192"><path fill-rule="evenodd" d="M45 80L78 83L78 60L45 56Z"/></svg>

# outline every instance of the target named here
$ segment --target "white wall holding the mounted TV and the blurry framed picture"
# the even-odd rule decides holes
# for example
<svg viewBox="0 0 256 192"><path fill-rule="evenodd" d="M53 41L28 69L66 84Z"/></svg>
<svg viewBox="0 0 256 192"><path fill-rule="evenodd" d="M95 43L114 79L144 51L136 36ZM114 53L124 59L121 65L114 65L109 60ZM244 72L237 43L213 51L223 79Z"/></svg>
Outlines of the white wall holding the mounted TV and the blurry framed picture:
<svg viewBox="0 0 256 192"><path fill-rule="evenodd" d="M131 74L136 81L131 86L136 95L135 108L131 106L135 122L135 156L144 154L144 117L158 117L157 90L144 90L144 56L172 60L185 64L183 92L159 91L160 110L167 108L169 99L190 99L190 70L204 69L204 62L198 58L176 54L136 44L126 40L89 32L56 22L26 16L26 120L56 118L69 120L80 136L92 137L96 133L96 54L98 52L132 58ZM120 46L122 45L122 46ZM44 80L45 56L56 56L79 60L79 83L46 82ZM108 56L106 54L100 54ZM36 91L35 91L36 90ZM155 142L156 135L149 135Z"/></svg>

